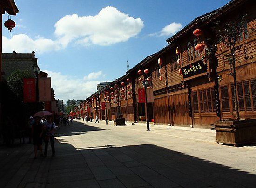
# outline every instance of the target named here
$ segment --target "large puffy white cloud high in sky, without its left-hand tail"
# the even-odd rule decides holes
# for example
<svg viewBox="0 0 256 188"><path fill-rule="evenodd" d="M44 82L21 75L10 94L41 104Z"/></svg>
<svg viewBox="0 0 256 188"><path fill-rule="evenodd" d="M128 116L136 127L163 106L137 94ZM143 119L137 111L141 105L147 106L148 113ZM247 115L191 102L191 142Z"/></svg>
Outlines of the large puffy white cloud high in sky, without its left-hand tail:
<svg viewBox="0 0 256 188"><path fill-rule="evenodd" d="M64 46L74 39L83 45L111 45L136 36L143 27L140 18L108 6L96 16L66 15L55 24L55 34Z"/></svg>

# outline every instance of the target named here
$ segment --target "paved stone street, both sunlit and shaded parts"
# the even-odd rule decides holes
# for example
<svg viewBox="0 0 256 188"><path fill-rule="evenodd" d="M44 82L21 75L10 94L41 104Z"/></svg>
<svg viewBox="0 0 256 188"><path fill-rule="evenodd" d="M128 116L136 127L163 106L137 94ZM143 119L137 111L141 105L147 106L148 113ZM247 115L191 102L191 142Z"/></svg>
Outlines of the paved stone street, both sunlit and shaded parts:
<svg viewBox="0 0 256 188"><path fill-rule="evenodd" d="M56 156L0 146L0 188L255 188L256 147L215 143L213 130L75 120Z"/></svg>

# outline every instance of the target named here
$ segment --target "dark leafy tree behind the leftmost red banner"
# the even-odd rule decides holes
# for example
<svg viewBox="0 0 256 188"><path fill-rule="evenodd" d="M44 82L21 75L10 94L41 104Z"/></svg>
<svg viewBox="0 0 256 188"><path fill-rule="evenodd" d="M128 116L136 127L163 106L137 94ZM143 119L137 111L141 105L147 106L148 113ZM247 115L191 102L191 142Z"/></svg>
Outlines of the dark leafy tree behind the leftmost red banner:
<svg viewBox="0 0 256 188"><path fill-rule="evenodd" d="M23 100L23 78L33 77L28 71L14 70L7 78L8 86L13 93Z"/></svg>

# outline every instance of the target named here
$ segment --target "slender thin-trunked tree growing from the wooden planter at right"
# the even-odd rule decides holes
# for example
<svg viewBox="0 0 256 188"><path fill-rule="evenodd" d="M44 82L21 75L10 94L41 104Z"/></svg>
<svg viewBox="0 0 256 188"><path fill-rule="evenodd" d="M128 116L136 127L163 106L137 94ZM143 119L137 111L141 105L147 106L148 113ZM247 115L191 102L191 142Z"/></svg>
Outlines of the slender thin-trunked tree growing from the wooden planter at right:
<svg viewBox="0 0 256 188"><path fill-rule="evenodd" d="M239 119L239 110L238 110L238 100L237 100L237 83L236 83L236 64L241 63L239 59L245 55L246 57L246 50L241 50L241 45L237 45L240 38L243 35L247 35L247 27L246 27L246 20L245 16L241 19L237 19L234 21L228 21L220 26L220 22L216 22L214 26L214 30L216 31L216 37L219 42L224 43L228 47L228 51L225 52L222 56L222 59L229 64L229 69L223 68L222 70L227 70L229 75L233 77L234 81L234 104L235 104L235 111L236 111L236 118ZM217 28L217 29L216 29ZM221 49L222 51L222 49ZM253 57L250 57L252 59ZM246 60L248 59L245 58Z"/></svg>

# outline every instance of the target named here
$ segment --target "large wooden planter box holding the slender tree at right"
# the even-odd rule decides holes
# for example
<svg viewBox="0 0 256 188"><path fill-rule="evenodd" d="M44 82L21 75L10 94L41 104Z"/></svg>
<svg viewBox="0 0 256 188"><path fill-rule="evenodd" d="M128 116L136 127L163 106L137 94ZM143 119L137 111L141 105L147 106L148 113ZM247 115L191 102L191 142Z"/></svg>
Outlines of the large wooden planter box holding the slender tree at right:
<svg viewBox="0 0 256 188"><path fill-rule="evenodd" d="M226 119L215 122L216 143L249 144L256 141L256 119Z"/></svg>

